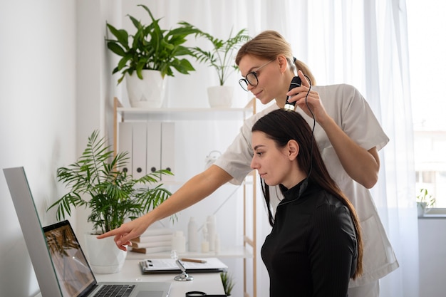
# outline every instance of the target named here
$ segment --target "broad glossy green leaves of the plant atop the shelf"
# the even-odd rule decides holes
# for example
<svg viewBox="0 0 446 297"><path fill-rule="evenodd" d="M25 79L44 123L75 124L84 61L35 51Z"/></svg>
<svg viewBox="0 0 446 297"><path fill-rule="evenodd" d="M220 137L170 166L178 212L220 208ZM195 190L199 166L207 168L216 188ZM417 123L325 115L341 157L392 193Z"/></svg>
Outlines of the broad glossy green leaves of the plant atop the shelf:
<svg viewBox="0 0 446 297"><path fill-rule="evenodd" d="M192 25L184 24L172 30L161 29L160 19L155 19L147 6L142 4L138 6L147 11L152 22L145 25L133 16L128 15L136 28L133 36L129 35L124 29L117 29L107 24L108 30L116 38L106 39L107 47L110 51L122 57L118 66L113 69L113 74L118 72L122 74L118 79L118 84L123 80L125 73L132 75L134 71L136 71L138 78L142 79L141 71L143 69L160 71L163 78L165 75L175 76L172 68L183 74L195 71L190 61L179 57L193 56L190 49L182 46L182 44L187 41L187 36L197 33L197 29L193 28Z"/></svg>

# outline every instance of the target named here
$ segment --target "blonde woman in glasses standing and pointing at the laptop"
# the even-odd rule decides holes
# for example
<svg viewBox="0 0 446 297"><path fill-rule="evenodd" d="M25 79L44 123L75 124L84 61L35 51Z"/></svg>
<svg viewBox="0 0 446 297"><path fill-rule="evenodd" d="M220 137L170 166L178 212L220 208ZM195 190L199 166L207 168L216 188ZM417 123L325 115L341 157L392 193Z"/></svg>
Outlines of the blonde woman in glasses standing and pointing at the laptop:
<svg viewBox="0 0 446 297"><path fill-rule="evenodd" d="M242 87L261 103L275 104L245 120L239 135L214 165L192 177L156 209L100 236L115 236L120 249L157 220L190 207L227 182L241 183L251 172L251 127L266 113L284 108L288 96L296 102L296 112L308 123L316 119L314 137L331 177L356 208L364 238L363 275L350 282L348 296L379 296L379 279L398 268L398 261L385 234L370 189L378 182L378 150L388 137L368 103L351 85L315 85L304 63L294 58L291 46L276 31L264 31L239 49L236 63L243 78ZM302 84L289 91L295 75ZM306 79L306 76L310 81ZM312 84L310 89L310 83ZM309 93L308 93L309 90ZM308 93L308 97L306 94ZM308 105L307 105L308 103ZM276 208L281 196L271 198Z"/></svg>

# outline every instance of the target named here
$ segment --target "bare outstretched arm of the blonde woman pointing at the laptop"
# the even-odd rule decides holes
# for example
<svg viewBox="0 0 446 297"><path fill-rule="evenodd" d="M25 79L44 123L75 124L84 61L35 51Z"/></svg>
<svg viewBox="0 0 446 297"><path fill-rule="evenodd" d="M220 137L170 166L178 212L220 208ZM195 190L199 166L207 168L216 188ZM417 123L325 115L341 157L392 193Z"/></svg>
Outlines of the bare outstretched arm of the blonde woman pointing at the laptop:
<svg viewBox="0 0 446 297"><path fill-rule="evenodd" d="M126 246L130 244L130 240L140 236L148 226L201 201L231 179L231 175L222 168L212 165L204 172L189 179L157 208L138 219L122 224L117 229L98 236L98 239L115 236L115 243L118 248L127 251Z"/></svg>

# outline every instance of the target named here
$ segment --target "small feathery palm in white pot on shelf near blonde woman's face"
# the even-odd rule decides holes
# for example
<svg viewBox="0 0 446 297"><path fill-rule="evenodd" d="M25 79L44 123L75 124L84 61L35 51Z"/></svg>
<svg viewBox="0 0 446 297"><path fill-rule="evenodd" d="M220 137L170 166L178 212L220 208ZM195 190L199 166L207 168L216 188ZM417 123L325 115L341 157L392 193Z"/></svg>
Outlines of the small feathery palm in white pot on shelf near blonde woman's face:
<svg viewBox="0 0 446 297"><path fill-rule="evenodd" d="M224 83L226 83L229 75L238 70L237 65L234 63L235 54L243 43L251 39L247 35L247 28L238 31L234 36L232 36L231 30L229 37L224 40L216 38L210 33L201 31L187 22L180 22L180 24L196 29L196 36L204 37L211 43L211 49L209 51L198 46L190 48L199 63L206 63L208 66L214 68L218 75L219 85L207 88L209 105L211 107L231 107L234 87L224 85Z"/></svg>

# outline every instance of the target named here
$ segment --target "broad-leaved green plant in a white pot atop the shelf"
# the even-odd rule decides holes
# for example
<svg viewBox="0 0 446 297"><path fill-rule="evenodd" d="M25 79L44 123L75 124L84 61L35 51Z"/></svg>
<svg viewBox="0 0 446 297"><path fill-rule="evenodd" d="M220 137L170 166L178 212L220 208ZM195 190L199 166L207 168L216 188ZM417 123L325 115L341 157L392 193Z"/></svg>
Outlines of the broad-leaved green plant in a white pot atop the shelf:
<svg viewBox="0 0 446 297"><path fill-rule="evenodd" d="M147 11L150 24L143 24L128 15L135 26L135 33L130 35L125 29L118 29L107 24L113 38L106 38L110 51L120 56L113 74L120 73L118 84L125 78L130 105L137 108L159 108L165 94L165 76L175 76L174 70L189 74L195 71L185 56L191 56L190 49L183 44L186 37L197 33L189 24L180 24L177 28L160 28L160 19L155 19L150 9L138 5Z"/></svg>

